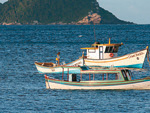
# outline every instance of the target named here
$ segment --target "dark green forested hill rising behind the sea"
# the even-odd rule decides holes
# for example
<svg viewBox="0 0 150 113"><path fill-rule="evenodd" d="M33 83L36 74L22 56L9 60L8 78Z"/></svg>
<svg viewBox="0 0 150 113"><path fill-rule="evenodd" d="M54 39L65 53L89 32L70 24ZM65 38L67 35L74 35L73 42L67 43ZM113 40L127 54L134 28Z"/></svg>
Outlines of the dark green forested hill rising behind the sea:
<svg viewBox="0 0 150 113"><path fill-rule="evenodd" d="M96 0L9 0L0 4L0 23L76 24L89 13L100 15L99 24L131 24L99 7Z"/></svg>

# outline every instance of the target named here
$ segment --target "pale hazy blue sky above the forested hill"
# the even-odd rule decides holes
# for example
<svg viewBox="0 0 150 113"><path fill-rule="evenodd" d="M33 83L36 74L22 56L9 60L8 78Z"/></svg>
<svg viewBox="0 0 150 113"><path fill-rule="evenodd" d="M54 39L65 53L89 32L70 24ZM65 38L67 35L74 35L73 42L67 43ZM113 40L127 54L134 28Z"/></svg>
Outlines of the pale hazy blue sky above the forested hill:
<svg viewBox="0 0 150 113"><path fill-rule="evenodd" d="M1 3L7 0L0 0ZM150 0L97 0L100 7L121 20L150 24Z"/></svg>

